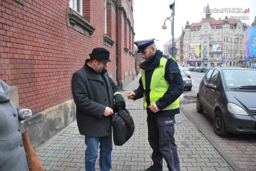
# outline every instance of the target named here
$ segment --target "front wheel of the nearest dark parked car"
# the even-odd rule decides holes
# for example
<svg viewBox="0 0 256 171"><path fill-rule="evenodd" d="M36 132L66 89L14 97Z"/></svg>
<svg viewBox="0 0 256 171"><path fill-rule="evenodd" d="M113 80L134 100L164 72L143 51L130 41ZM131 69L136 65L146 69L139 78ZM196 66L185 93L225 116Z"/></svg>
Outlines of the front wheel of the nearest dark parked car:
<svg viewBox="0 0 256 171"><path fill-rule="evenodd" d="M224 117L221 111L217 111L214 114L213 128L215 134L218 136L226 136L229 134L229 132L226 130Z"/></svg>

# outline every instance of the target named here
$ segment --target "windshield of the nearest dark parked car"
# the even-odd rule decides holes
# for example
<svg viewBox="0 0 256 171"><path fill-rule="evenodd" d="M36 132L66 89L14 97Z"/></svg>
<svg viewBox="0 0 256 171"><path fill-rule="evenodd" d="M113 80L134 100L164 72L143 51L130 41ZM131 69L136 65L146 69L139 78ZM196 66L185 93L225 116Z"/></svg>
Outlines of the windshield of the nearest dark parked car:
<svg viewBox="0 0 256 171"><path fill-rule="evenodd" d="M256 70L223 69L223 77L227 88L256 86Z"/></svg>

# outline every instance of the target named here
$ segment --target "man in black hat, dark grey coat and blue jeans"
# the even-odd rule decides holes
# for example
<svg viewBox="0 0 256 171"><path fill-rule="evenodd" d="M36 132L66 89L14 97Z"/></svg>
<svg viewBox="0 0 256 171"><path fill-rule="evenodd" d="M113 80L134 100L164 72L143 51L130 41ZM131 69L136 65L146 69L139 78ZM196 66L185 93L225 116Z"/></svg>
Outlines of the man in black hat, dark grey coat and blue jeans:
<svg viewBox="0 0 256 171"><path fill-rule="evenodd" d="M85 170L94 171L99 151L100 170L111 170L113 109L125 108L120 89L105 69L109 51L94 48L83 68L72 76L72 94L80 134L85 135Z"/></svg>

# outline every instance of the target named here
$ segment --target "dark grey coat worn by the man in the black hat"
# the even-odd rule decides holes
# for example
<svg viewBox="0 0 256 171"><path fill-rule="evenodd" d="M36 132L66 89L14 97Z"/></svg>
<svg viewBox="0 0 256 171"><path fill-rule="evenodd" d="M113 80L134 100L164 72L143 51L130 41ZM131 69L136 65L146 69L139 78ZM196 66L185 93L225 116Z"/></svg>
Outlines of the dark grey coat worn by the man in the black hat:
<svg viewBox="0 0 256 171"><path fill-rule="evenodd" d="M103 115L106 106L113 109L115 102L125 101L107 70L97 73L87 65L88 61L72 76L78 130L88 137L104 137L112 134L112 116Z"/></svg>

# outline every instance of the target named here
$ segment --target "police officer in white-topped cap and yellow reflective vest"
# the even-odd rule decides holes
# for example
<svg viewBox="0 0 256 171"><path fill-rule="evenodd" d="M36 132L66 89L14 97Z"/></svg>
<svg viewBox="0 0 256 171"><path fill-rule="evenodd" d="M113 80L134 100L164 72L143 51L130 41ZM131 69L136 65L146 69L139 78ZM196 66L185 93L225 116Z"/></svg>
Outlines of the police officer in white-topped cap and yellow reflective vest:
<svg viewBox="0 0 256 171"><path fill-rule="evenodd" d="M154 40L134 42L145 61L139 65L142 69L139 87L126 95L133 100L144 97L144 109L148 114L148 141L153 149L153 165L142 171L162 171L163 158L169 170L179 171L174 124L175 114L180 113L179 96L184 84L176 60L157 50Z"/></svg>

